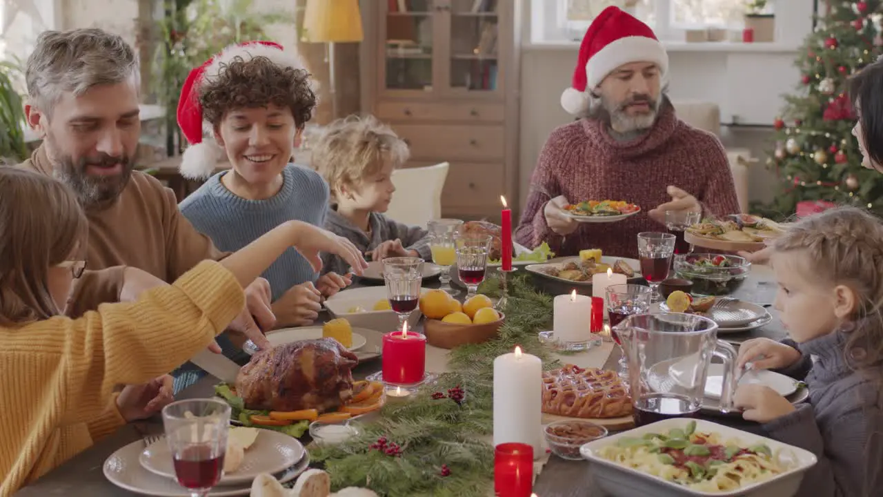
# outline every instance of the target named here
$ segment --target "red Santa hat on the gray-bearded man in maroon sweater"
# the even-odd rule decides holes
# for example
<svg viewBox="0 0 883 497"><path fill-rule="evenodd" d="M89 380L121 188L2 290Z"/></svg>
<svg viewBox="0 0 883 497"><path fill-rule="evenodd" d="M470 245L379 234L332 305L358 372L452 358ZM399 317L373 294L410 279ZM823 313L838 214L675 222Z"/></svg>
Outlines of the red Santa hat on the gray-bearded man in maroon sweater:
<svg viewBox="0 0 883 497"><path fill-rule="evenodd" d="M572 115L589 110L589 92L617 67L630 62L654 62L663 80L668 75L668 54L643 22L610 6L592 21L579 45L577 68L561 106Z"/></svg>

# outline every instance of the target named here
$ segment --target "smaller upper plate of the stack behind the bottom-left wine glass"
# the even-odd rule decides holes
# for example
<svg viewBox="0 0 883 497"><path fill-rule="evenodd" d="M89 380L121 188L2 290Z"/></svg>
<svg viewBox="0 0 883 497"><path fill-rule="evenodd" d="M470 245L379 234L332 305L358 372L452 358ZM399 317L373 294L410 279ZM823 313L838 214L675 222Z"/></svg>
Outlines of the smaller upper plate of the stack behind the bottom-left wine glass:
<svg viewBox="0 0 883 497"><path fill-rule="evenodd" d="M245 450L245 458L236 471L224 474L218 485L251 485L260 473L277 473L304 457L304 446L282 432L258 430L258 438ZM169 442L165 438L141 451L139 463L145 470L175 480L175 466Z"/></svg>

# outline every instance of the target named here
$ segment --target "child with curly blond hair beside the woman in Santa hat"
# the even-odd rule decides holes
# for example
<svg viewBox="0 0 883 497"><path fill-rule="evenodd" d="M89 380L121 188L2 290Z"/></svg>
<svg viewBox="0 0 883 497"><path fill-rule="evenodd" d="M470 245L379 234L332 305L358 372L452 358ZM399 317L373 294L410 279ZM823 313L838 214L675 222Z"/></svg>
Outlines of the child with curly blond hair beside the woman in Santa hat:
<svg viewBox="0 0 883 497"><path fill-rule="evenodd" d="M325 228L374 261L394 256L432 260L426 229L383 214L396 192L392 172L408 155L404 140L373 116L337 119L313 145L313 167L331 190ZM323 256L322 262L323 272L348 271L338 256Z"/></svg>

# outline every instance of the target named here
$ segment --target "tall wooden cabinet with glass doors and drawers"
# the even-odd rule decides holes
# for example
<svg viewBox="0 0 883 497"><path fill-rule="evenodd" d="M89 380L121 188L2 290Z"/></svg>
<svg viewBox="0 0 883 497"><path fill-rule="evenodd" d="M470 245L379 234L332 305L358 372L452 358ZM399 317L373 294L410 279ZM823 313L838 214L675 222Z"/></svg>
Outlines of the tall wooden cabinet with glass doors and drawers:
<svg viewBox="0 0 883 497"><path fill-rule="evenodd" d="M363 111L396 130L409 167L449 162L442 213L517 209L520 4L363 0Z"/></svg>

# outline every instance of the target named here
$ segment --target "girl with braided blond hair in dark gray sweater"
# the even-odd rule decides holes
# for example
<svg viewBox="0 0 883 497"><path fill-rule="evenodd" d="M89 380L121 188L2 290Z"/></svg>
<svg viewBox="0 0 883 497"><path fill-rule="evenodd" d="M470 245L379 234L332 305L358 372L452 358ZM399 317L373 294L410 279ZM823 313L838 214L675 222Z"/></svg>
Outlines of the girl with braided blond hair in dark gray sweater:
<svg viewBox="0 0 883 497"><path fill-rule="evenodd" d="M770 262L789 340L745 341L738 364L804 380L810 397L793 405L743 385L736 407L819 458L798 497L883 495L883 224L856 208L826 210L789 226Z"/></svg>

